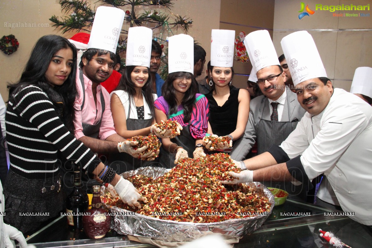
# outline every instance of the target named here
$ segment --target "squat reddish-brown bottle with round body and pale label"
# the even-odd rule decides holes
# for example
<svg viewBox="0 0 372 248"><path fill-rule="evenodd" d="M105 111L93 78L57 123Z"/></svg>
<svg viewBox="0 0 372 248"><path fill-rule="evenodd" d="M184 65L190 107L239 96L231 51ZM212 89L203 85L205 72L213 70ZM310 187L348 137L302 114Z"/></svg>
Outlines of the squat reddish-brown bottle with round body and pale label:
<svg viewBox="0 0 372 248"><path fill-rule="evenodd" d="M102 207L101 187L93 186L92 209L88 215L83 216L84 232L91 239L103 238L110 229L110 216L108 211Z"/></svg>

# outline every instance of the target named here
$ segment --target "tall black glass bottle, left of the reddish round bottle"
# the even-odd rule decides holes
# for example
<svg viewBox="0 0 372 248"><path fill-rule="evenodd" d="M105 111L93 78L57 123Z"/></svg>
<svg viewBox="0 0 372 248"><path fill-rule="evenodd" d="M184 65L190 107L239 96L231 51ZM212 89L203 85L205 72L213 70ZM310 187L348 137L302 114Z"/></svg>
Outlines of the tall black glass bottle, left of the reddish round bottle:
<svg viewBox="0 0 372 248"><path fill-rule="evenodd" d="M75 230L75 238L78 239L78 234L83 228L83 216L88 210L89 199L88 195L81 189L80 171L74 171L74 189L66 199L67 223L70 229Z"/></svg>

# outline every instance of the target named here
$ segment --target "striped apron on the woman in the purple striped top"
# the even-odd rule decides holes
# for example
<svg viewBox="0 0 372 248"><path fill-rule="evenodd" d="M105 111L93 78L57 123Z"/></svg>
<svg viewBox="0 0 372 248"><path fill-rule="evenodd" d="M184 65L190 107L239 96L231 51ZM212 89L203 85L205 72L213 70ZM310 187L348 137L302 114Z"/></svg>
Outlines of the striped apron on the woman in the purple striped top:
<svg viewBox="0 0 372 248"><path fill-rule="evenodd" d="M170 139L172 143L176 143L178 146L182 146L187 151L189 158L192 158L195 150L195 139L192 137L190 132L190 124L183 127L181 134ZM174 167L174 160L176 155L166 151L163 146L160 147L159 163L161 167L171 169Z"/></svg>

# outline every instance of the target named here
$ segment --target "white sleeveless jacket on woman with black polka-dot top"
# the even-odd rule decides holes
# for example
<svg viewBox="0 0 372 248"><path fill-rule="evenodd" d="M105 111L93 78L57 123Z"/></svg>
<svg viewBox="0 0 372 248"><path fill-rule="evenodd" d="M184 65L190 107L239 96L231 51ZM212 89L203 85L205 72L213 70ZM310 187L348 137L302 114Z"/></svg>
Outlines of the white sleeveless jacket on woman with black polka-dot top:
<svg viewBox="0 0 372 248"><path fill-rule="evenodd" d="M128 92L125 92L124 90L115 90L115 91L112 91L110 96L112 96L112 94L116 94L116 96L119 97L121 103L123 104L123 107L124 107L124 110L125 110L125 115L126 115L126 119L128 119L128 115L129 115L129 94ZM144 105L144 119L151 119L153 116L151 116L151 112L150 112L150 107L148 106L147 102L146 102L146 99L145 99L145 96L143 95L142 93L142 96L143 96L143 105ZM156 99L158 99L158 96L156 94L153 94L153 97L154 97L154 101ZM152 103L154 104L154 103ZM137 115L137 109L136 109L136 104L134 101L131 101L131 109L130 109L130 112L131 114L129 115L129 117L131 119L138 119L138 115Z"/></svg>

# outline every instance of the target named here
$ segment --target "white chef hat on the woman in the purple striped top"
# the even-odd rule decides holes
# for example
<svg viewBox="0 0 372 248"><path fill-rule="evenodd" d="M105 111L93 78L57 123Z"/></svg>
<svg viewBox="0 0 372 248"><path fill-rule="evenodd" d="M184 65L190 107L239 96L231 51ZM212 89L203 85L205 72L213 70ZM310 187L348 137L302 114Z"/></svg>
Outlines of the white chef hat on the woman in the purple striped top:
<svg viewBox="0 0 372 248"><path fill-rule="evenodd" d="M168 73L185 71L194 73L194 39L179 34L168 38Z"/></svg>

